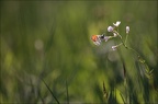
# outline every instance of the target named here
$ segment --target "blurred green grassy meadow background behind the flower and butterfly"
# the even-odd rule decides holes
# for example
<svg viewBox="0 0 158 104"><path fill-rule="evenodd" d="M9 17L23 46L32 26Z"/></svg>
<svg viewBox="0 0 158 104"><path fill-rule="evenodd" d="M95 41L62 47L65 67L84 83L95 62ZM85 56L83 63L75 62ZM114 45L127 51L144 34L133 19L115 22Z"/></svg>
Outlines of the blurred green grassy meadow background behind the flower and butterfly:
<svg viewBox="0 0 158 104"><path fill-rule="evenodd" d="M158 103L157 1L0 1L0 102L55 103L44 80L60 103L104 103L102 84L126 92L123 61L133 100ZM147 80L134 53L115 39L95 46L93 34L112 35L106 27L121 21L131 27L127 45L155 69ZM140 71L138 71L140 70ZM146 80L142 80L142 78ZM68 93L67 93L68 92ZM68 96L67 96L68 94ZM114 103L113 103L114 104Z"/></svg>

